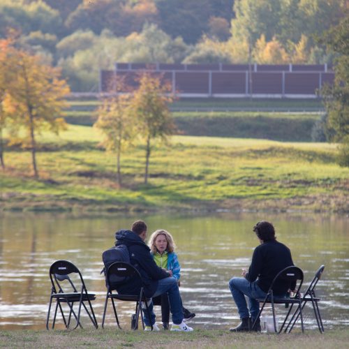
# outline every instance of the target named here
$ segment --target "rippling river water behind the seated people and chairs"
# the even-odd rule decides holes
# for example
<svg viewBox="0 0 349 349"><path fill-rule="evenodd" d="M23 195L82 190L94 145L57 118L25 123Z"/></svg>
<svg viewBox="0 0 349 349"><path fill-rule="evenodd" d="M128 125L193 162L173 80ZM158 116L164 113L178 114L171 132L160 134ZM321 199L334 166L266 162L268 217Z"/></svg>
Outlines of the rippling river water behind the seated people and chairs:
<svg viewBox="0 0 349 349"><path fill-rule="evenodd" d="M94 310L101 323L105 281L101 253L114 244L114 232L144 219L149 233L170 231L181 263L181 297L196 313L195 328L225 329L238 322L228 281L251 262L258 240L252 227L272 221L276 235L292 251L295 265L309 283L325 265L318 284L325 329L349 325L349 219L318 214L228 214L153 216L97 216L72 214L0 215L0 329L43 329L50 299L48 271L54 260L73 262L82 272L87 289L95 292ZM160 308L155 307L158 320ZM130 327L133 304L120 305L121 325ZM278 308L279 313L285 309ZM311 309L306 328L315 328ZM61 318L57 320L61 327ZM84 316L82 324L91 322ZM114 326L111 308L107 326Z"/></svg>

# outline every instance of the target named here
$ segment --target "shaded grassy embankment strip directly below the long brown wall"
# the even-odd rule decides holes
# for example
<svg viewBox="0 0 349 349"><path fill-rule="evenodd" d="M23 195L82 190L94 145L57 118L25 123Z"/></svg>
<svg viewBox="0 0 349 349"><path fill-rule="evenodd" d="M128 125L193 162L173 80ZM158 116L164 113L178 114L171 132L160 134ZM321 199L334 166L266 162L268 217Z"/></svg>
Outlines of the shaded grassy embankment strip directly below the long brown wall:
<svg viewBox="0 0 349 349"><path fill-rule="evenodd" d="M92 126L101 101L73 100L69 105L68 123ZM289 142L311 142L312 128L323 114L317 99L183 98L171 108L180 135Z"/></svg>

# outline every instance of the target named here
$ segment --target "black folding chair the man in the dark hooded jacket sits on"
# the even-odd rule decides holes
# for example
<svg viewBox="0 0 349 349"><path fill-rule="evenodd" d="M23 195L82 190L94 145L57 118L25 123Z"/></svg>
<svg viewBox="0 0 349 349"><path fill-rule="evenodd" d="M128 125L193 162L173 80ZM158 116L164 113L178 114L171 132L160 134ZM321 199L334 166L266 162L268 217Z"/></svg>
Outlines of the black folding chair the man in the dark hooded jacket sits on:
<svg viewBox="0 0 349 349"><path fill-rule="evenodd" d="M116 290L121 285L125 285L130 279L133 281L138 280L141 285L140 293L138 295L128 295L128 294L119 294L113 293L113 290ZM117 320L117 326L121 329L119 318L117 316L117 306L114 302L114 299L118 299L119 301L127 301L127 302L136 302L135 306L135 319L133 323L132 329L138 329L138 318L139 316L142 319L142 327L144 329L144 320L143 320L143 312L142 312L142 302L145 303L148 317L150 319L150 311L148 307L148 302L151 298L147 298L144 295L144 288L142 284L142 277L133 265L125 263L125 262L114 262L107 268L107 273L105 274L105 281L107 283L107 295L105 296L105 306L102 320L102 327L104 328L105 321L105 313L107 312L107 302L108 299L112 300L112 307L114 309L115 319ZM153 326L151 325L151 329Z"/></svg>

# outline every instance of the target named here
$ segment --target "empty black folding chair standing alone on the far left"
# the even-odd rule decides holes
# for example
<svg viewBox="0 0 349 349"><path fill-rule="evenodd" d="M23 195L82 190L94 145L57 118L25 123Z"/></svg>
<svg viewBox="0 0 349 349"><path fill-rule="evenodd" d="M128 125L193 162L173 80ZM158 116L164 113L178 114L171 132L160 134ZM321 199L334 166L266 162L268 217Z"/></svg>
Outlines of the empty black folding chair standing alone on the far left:
<svg viewBox="0 0 349 349"><path fill-rule="evenodd" d="M69 274L72 274L72 273L76 273L78 276L78 279L80 280L79 281L81 283L80 292L77 290L73 281L69 277ZM98 328L96 316L94 315L94 309L92 308L92 304L91 304L91 301L94 301L96 299L96 295L94 295L93 293L87 292L84 279L82 279L82 274L80 273L79 269L77 269L77 267L75 267L75 265L73 265L72 262L68 262L68 260L57 260L50 267L50 280L51 280L52 288L51 288L50 304L48 306L48 312L47 312L46 329L50 329L50 326L49 326L50 311L51 311L53 299L56 300L56 308L54 310L54 318L53 318L52 327L51 327L52 329L54 329L58 308L59 308L59 311L61 312L66 329L71 329L70 320L72 315L74 316L76 321L76 325L75 327L73 327L73 329L76 329L77 326L80 326L82 328L82 325L80 322L80 313L81 313L82 306L84 307L85 311L89 315L89 318L92 324L94 325L94 327ZM73 289L73 292L64 292L62 284L65 281ZM79 308L76 314L73 307L74 307L74 303L77 303L77 302L79 304ZM84 302L89 303L89 309L91 313L89 313L89 310L87 309L87 306L84 304ZM68 308L69 308L68 321L66 320L66 316L64 315L62 304L68 305Z"/></svg>

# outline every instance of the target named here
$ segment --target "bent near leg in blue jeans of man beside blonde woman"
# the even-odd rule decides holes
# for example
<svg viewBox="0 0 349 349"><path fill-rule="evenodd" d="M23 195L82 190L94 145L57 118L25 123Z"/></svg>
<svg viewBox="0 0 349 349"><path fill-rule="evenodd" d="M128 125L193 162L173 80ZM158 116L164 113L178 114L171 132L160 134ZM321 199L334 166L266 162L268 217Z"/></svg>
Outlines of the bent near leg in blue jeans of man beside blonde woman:
<svg viewBox="0 0 349 349"><path fill-rule="evenodd" d="M168 293L168 300L170 302L170 311L172 313L172 322L175 325L181 324L183 321L183 311L181 309L181 297L179 296L179 289L177 279L166 278L158 281L158 288L154 293L154 297Z"/></svg>

